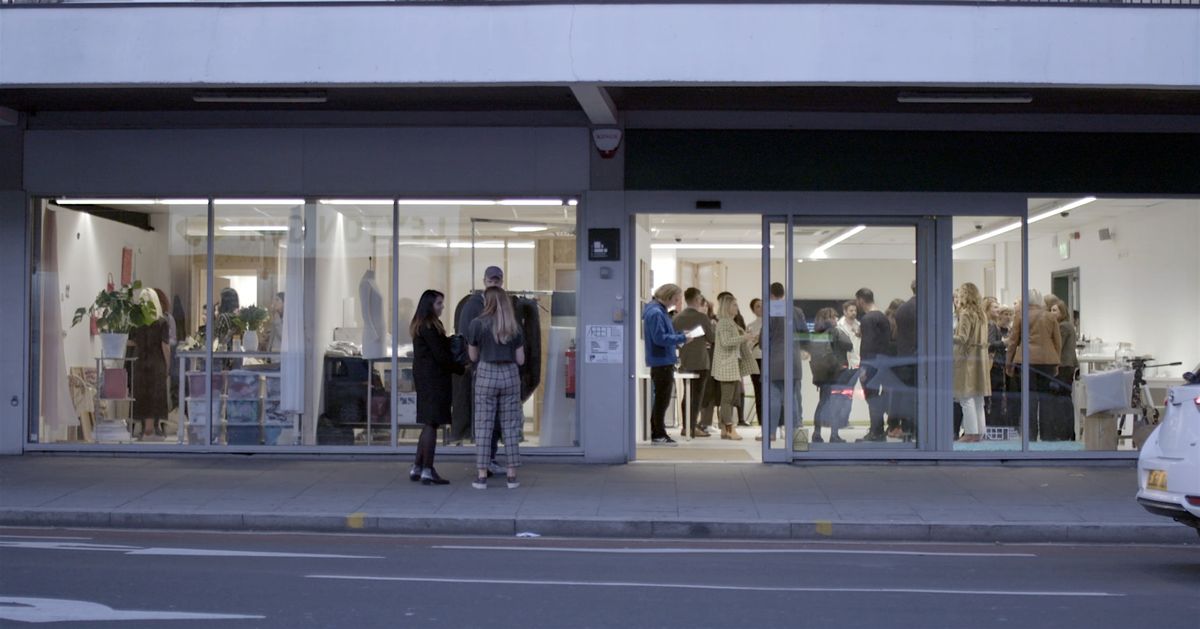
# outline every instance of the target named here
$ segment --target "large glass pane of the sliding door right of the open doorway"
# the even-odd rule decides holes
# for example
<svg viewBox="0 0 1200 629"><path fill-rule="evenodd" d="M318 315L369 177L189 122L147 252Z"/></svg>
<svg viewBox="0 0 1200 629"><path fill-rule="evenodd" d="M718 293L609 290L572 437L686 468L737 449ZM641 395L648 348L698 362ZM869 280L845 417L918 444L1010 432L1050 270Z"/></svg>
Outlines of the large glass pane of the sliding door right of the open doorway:
<svg viewBox="0 0 1200 629"><path fill-rule="evenodd" d="M814 418L811 444L793 439L796 450L917 447L916 235L912 226L793 227L797 397Z"/></svg>

